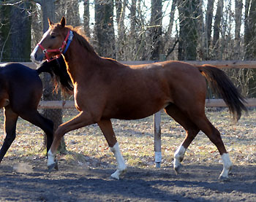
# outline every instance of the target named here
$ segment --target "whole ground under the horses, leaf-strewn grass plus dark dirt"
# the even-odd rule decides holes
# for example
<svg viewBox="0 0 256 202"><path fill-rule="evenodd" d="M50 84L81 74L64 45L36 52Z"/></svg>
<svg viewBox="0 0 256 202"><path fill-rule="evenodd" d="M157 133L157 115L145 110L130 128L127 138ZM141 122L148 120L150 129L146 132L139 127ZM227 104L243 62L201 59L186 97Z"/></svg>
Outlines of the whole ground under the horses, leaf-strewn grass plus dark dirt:
<svg viewBox="0 0 256 202"><path fill-rule="evenodd" d="M173 152L184 130L165 115L161 168L154 168L152 117L113 120L129 166L119 181L110 179L116 161L97 125L68 133L68 152L57 157L59 171L49 173L42 131L19 120L17 138L0 164L0 201L256 201L256 112L249 114L233 125L228 112L208 112L234 163L227 182L218 180L222 162L203 133L187 150L181 174L175 174Z"/></svg>

